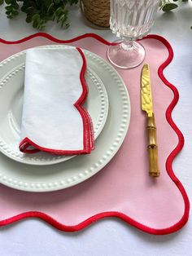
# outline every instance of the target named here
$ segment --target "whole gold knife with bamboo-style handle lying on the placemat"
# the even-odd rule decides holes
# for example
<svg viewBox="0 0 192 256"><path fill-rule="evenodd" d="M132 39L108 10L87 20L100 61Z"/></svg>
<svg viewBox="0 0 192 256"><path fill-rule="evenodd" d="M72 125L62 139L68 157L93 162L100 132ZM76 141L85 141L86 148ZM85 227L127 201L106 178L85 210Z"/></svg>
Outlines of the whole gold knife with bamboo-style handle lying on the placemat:
<svg viewBox="0 0 192 256"><path fill-rule="evenodd" d="M147 135L148 135L148 157L149 157L149 174L152 177L159 177L158 167L158 146L156 139L155 115L153 112L151 77L149 64L144 64L141 75L141 104L142 110L146 112L147 118Z"/></svg>

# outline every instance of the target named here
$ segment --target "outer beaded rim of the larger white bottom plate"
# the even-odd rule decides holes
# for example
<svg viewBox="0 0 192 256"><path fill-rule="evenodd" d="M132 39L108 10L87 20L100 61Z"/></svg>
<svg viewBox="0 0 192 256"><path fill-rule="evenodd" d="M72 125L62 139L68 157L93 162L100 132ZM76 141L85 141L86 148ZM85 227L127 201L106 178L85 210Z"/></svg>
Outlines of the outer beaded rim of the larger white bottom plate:
<svg viewBox="0 0 192 256"><path fill-rule="evenodd" d="M62 45L61 45L62 46ZM99 55L83 50L85 52L85 55L88 55L90 58L92 57L94 60L98 61L98 64L103 64L103 67L107 69L108 73L110 73L111 77L113 77L116 80L116 85L120 87L120 99L122 101L122 117L121 119L121 129L116 134L116 141L112 144L111 148L106 152L104 156L99 156L100 159L94 163L91 163L91 167L89 167L89 170L84 170L85 175L80 176L78 179L76 179L76 176L71 177L67 181L59 180L59 182L53 181L52 183L29 183L29 186L26 186L26 183L23 181L18 182L18 180L14 183L11 181L11 183L8 181L9 177L3 176L0 174L0 182L7 185L8 187L27 191L27 192L52 192L52 191L58 191L63 188L69 188L77 183L81 183L85 181L86 179L89 179L94 174L98 173L99 170L103 169L104 166L107 165L109 161L115 156L116 152L120 149L121 144L124 141L125 136L127 135L127 131L129 129L129 123L130 123L130 116L131 116L131 106L130 106L130 98L129 98L129 92L127 90L127 87L124 84L124 81L122 77L120 77L120 74L116 71L116 68L112 67L111 64L107 63L106 60L103 60L102 57ZM107 90L107 89L106 89ZM110 105L110 103L109 103ZM126 108L125 108L126 107ZM124 110L124 114L123 114ZM108 119L108 118L107 118ZM111 145L111 144L110 144ZM94 164L94 167L93 167ZM30 186L31 185L31 186ZM32 186L33 185L33 186Z"/></svg>

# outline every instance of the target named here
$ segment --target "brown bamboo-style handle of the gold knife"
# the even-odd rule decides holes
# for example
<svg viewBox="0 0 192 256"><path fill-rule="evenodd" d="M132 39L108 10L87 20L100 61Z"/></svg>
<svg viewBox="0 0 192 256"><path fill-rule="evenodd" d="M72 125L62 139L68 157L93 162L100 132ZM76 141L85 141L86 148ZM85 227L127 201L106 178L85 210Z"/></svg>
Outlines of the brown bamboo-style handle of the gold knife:
<svg viewBox="0 0 192 256"><path fill-rule="evenodd" d="M156 126L154 113L147 116L147 135L148 135L148 157L149 157L149 174L151 177L159 177L160 171L158 167L158 146L156 137Z"/></svg>

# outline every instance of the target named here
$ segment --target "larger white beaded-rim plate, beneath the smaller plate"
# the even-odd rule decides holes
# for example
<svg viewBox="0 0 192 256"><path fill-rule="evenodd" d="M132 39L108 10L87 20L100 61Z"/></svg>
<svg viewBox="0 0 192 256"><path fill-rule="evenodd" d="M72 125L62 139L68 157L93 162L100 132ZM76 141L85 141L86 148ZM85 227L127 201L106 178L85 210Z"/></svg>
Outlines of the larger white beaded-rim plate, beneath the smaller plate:
<svg viewBox="0 0 192 256"><path fill-rule="evenodd" d="M107 121L96 140L94 151L54 166L23 165L0 154L1 183L28 192L48 192L72 187L89 179L106 166L120 148L129 127L128 91L115 68L98 55L89 51L84 53L88 66L103 81L109 99Z"/></svg>

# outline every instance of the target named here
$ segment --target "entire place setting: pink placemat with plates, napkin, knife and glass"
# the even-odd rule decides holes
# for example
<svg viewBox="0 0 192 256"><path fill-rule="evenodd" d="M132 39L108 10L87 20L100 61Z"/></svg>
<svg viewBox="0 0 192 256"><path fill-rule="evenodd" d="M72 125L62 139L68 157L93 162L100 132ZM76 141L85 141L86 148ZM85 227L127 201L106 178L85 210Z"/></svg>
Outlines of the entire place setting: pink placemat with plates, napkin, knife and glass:
<svg viewBox="0 0 192 256"><path fill-rule="evenodd" d="M111 0L115 42L0 39L0 225L37 217L74 232L117 217L162 235L185 225L189 200L172 170L179 95L164 77L173 51L148 35L158 7Z"/></svg>

